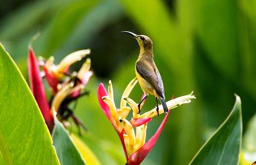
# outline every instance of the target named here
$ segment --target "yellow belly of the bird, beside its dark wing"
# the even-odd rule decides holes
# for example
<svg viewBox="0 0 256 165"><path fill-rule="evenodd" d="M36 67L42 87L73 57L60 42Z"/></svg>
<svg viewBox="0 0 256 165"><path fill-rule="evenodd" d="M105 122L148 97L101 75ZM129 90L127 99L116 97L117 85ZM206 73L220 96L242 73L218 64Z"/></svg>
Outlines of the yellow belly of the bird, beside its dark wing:
<svg viewBox="0 0 256 165"><path fill-rule="evenodd" d="M145 95L154 95L155 97L159 97L154 88L152 88L152 86L137 72L136 68L135 74Z"/></svg>

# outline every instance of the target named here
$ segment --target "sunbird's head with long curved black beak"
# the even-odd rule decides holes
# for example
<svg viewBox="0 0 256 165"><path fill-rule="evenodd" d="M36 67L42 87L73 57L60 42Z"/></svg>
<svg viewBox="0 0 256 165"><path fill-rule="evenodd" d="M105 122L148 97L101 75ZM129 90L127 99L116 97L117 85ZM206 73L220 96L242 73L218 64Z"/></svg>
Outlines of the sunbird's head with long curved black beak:
<svg viewBox="0 0 256 165"><path fill-rule="evenodd" d="M122 33L128 33L129 35L131 35L133 38L135 38L137 40L137 42L140 45L140 49L141 51L147 51L147 50L152 50L153 47L153 42L152 40L146 36L146 35L138 35L132 32L128 32L128 31L122 31Z"/></svg>

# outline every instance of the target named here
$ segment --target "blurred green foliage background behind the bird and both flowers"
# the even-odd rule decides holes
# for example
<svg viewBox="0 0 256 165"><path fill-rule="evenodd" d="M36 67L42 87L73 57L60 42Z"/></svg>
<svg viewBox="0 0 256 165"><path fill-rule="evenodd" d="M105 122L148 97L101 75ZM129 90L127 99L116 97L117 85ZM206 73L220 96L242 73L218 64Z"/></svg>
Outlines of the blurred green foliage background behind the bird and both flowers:
<svg viewBox="0 0 256 165"><path fill-rule="evenodd" d="M99 82L112 80L118 105L135 77L139 46L131 31L148 35L154 60L169 100L194 91L197 99L172 111L165 130L143 165L185 165L242 100L243 132L255 114L256 1L254 0L8 0L0 6L0 42L27 78L27 46L56 62L78 49L91 48L94 76L89 97L78 101L75 114L90 130L82 139L102 164L119 165L125 157L116 132L97 99ZM84 60L83 60L84 61ZM73 69L78 69L82 62ZM131 98L139 101L136 85ZM142 111L151 109L149 97ZM147 138L163 116L148 124Z"/></svg>

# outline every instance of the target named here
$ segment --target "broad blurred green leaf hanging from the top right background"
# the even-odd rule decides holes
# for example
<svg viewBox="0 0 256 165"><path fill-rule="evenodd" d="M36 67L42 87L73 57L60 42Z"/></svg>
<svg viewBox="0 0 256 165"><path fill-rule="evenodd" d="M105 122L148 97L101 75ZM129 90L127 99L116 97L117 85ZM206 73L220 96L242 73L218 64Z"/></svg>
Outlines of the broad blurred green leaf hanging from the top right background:
<svg viewBox="0 0 256 165"><path fill-rule="evenodd" d="M221 73L234 80L239 73L238 0L194 3L196 30L206 55Z"/></svg>

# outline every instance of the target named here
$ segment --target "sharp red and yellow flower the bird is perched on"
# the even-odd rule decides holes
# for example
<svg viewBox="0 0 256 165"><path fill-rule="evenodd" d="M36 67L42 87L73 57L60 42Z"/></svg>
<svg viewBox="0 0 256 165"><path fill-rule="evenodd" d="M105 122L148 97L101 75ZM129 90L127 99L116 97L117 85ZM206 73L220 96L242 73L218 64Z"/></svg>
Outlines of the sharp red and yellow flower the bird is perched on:
<svg viewBox="0 0 256 165"><path fill-rule="evenodd" d="M98 100L100 106L121 140L128 165L139 165L146 158L146 155L154 147L158 137L163 131L168 115L170 114L165 114L165 117L156 133L147 142L145 142L147 123L151 121L152 117L158 114L156 108L142 115L138 114L138 104L128 98L131 90L137 82L137 79L134 78L126 87L121 98L120 108L116 108L115 106L111 81L109 82L108 92L102 83L98 86ZM195 99L193 92L189 95L171 99L167 101L166 104L170 111L181 104L191 102L191 99ZM129 106L127 106L127 103ZM145 101L141 104L140 108L142 108L144 103ZM131 110L132 118L131 120L128 120L126 118ZM159 105L159 115L163 113L164 108L162 105ZM133 129L134 127L136 132Z"/></svg>

